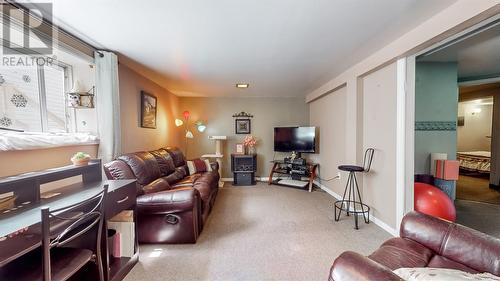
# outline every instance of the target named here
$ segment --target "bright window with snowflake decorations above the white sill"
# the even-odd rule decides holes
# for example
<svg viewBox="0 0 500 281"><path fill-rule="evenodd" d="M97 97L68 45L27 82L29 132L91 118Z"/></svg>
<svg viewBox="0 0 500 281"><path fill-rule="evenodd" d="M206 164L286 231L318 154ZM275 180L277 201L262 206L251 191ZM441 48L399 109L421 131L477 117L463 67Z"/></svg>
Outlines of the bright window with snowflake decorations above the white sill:
<svg viewBox="0 0 500 281"><path fill-rule="evenodd" d="M67 132L67 70L55 63L0 67L0 128Z"/></svg>

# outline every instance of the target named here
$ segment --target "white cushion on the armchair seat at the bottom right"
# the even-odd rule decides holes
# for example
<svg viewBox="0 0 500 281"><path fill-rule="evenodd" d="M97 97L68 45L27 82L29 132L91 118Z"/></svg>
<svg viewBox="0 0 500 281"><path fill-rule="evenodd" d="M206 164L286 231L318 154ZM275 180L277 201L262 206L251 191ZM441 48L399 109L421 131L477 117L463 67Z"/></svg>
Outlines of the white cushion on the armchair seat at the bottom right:
<svg viewBox="0 0 500 281"><path fill-rule="evenodd" d="M398 268L393 272L406 281L500 281L500 277L491 273L473 274L449 268Z"/></svg>

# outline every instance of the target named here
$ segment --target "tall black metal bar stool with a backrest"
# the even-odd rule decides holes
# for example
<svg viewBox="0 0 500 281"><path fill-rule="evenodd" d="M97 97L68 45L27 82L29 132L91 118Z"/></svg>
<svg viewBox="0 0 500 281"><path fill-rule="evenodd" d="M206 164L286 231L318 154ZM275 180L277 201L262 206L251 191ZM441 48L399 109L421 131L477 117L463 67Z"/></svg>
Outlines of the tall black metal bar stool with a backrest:
<svg viewBox="0 0 500 281"><path fill-rule="evenodd" d="M349 177L347 178L347 183L345 185L344 195L342 200L337 200L334 203L334 214L335 221L339 221L340 214L342 211L346 212L346 215L354 214L354 225L356 229L358 227L358 215L362 214L365 219L365 223L370 223L370 207L363 203L361 200L361 194L359 193L358 181L356 180L356 173L367 173L370 171L372 165L373 153L375 150L373 148L368 148L365 151L365 156L363 159L363 167L356 165L340 165L338 168L341 171L349 172ZM346 200L346 194L347 200ZM358 196L356 200L356 194ZM352 206L352 209L351 209ZM337 215L338 210L338 215Z"/></svg>

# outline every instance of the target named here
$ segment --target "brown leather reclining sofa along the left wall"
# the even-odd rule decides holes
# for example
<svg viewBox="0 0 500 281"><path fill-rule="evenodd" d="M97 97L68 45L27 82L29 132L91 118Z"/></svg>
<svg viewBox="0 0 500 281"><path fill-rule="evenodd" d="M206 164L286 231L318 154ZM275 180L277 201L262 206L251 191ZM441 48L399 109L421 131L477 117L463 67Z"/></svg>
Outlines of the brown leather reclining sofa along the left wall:
<svg viewBox="0 0 500 281"><path fill-rule="evenodd" d="M128 153L104 164L108 179L137 179L141 243L195 243L218 191L219 172L189 175L178 148Z"/></svg>

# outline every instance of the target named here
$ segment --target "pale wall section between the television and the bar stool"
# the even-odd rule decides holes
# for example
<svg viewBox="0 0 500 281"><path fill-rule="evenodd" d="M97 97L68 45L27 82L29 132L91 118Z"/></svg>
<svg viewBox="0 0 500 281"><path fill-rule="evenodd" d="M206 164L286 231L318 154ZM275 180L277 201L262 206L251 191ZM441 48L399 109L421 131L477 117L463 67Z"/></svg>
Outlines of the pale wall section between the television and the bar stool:
<svg viewBox="0 0 500 281"><path fill-rule="evenodd" d="M337 176L337 167L346 164L346 106L347 89L342 87L333 93L319 98L309 104L309 122L319 128L319 153L309 158L320 163L319 171L322 179ZM337 194L342 195L347 174L341 179L320 181L320 183Z"/></svg>

